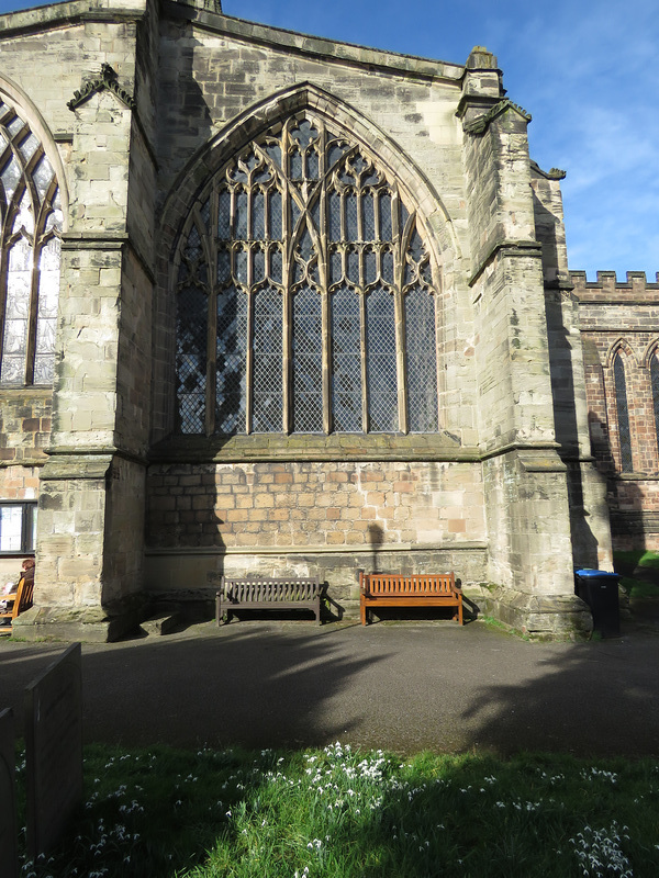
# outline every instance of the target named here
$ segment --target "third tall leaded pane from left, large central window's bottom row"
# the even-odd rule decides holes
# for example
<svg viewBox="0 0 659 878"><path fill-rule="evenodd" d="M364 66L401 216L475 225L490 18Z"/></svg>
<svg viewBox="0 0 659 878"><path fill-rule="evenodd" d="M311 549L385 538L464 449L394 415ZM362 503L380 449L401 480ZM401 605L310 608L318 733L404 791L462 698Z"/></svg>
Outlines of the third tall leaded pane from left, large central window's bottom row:
<svg viewBox="0 0 659 878"><path fill-rule="evenodd" d="M254 296L254 432L283 429L282 301L270 286Z"/></svg>

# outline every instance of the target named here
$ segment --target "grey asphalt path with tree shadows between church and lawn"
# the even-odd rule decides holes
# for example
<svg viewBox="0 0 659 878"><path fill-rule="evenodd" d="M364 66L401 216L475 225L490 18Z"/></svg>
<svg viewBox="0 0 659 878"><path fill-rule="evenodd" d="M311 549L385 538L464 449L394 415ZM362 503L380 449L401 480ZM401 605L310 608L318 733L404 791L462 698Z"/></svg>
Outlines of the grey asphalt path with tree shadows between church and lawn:
<svg viewBox="0 0 659 878"><path fill-rule="evenodd" d="M626 630L628 628L628 630ZM0 709L66 644L0 640ZM659 756L659 627L528 643L481 622L235 621L82 646L83 736L124 745Z"/></svg>

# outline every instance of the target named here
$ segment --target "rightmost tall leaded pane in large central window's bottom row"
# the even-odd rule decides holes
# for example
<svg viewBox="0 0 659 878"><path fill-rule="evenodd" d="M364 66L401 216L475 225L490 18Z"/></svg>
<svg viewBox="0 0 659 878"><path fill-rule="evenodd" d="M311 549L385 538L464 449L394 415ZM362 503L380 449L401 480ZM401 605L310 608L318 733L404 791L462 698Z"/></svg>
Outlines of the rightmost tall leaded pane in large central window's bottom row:
<svg viewBox="0 0 659 878"><path fill-rule="evenodd" d="M436 432L435 296L415 286L405 295L404 302L407 428L411 432Z"/></svg>

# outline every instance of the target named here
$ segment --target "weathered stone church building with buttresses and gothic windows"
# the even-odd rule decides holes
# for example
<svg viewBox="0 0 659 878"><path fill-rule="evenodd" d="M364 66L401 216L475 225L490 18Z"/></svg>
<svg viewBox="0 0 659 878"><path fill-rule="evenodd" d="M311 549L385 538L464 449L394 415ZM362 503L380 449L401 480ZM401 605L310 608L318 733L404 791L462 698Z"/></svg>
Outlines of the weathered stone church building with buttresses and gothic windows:
<svg viewBox="0 0 659 878"><path fill-rule="evenodd" d="M319 575L349 616L359 569L454 570L520 629L588 628L573 566L659 548L659 285L568 272L529 120L480 47L395 55L217 0L0 16L21 635L113 638L217 573Z"/></svg>

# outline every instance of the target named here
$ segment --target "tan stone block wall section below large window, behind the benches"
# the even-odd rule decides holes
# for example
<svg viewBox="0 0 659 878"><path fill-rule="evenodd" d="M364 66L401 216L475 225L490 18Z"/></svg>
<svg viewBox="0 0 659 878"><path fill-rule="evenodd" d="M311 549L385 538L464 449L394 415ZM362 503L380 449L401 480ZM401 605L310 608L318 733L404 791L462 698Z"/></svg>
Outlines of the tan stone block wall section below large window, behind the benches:
<svg viewBox="0 0 659 878"><path fill-rule="evenodd" d="M148 588L203 593L205 572L320 575L455 570L483 582L480 465L443 462L152 464ZM176 558L175 558L176 556ZM448 566L446 566L448 564ZM300 571L304 570L304 574ZM348 589L346 592L346 589Z"/></svg>

